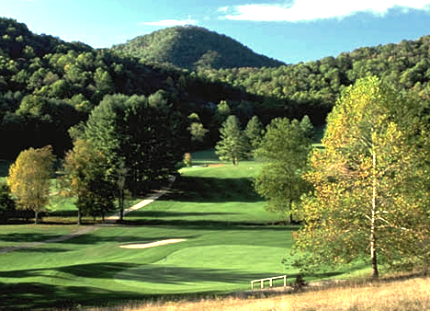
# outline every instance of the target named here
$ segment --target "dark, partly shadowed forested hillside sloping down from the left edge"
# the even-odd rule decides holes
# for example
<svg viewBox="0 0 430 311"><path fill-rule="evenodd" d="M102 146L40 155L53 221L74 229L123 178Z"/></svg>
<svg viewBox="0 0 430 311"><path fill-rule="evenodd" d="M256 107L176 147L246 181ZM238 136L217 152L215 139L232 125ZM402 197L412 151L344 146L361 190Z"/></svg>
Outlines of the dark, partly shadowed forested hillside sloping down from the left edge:
<svg viewBox="0 0 430 311"><path fill-rule="evenodd" d="M215 103L246 99L232 87L180 70L35 35L13 19L0 19L0 34L0 158L12 159L25 148L47 144L63 156L71 148L68 129L85 121L108 94L150 95L162 90L173 110L184 117L206 109L209 119Z"/></svg>

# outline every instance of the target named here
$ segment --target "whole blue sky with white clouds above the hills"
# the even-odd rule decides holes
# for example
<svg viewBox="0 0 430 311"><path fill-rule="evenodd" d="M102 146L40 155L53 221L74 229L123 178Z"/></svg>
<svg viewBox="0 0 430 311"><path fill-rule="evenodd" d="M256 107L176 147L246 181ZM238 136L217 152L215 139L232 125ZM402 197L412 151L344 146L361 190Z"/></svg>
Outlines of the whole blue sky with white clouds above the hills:
<svg viewBox="0 0 430 311"><path fill-rule="evenodd" d="M94 48L196 25L287 64L430 35L430 0L0 0L0 16Z"/></svg>

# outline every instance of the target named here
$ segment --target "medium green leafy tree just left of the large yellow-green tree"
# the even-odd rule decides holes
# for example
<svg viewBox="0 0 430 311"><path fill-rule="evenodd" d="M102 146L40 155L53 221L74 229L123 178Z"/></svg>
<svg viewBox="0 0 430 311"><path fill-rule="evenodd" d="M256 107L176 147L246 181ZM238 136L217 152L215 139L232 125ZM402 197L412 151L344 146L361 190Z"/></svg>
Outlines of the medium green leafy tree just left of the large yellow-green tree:
<svg viewBox="0 0 430 311"><path fill-rule="evenodd" d="M267 161L255 180L255 190L266 198L270 212L289 215L293 221L293 204L299 205L310 184L303 180L311 142L299 122L277 118L267 127L256 156Z"/></svg>

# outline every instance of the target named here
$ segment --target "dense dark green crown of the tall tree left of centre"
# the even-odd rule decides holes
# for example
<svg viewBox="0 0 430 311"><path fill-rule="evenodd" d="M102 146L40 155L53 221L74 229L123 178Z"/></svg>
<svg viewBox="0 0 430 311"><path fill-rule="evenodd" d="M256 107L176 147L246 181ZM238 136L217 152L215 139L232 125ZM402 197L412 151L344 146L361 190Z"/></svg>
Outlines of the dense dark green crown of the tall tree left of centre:
<svg viewBox="0 0 430 311"><path fill-rule="evenodd" d="M84 137L105 157L112 184L123 161L129 170L125 188L142 192L167 178L181 160L184 127L161 93L108 95L92 111Z"/></svg>

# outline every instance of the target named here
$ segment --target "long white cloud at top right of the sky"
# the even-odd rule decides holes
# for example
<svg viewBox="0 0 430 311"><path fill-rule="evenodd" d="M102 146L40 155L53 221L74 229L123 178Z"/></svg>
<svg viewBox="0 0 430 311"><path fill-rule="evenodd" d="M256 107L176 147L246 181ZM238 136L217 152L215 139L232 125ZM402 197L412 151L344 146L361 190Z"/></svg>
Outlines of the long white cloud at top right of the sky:
<svg viewBox="0 0 430 311"><path fill-rule="evenodd" d="M223 19L299 22L342 18L358 12L382 16L389 9L430 10L430 0L295 0L288 4L245 4L218 9Z"/></svg>

